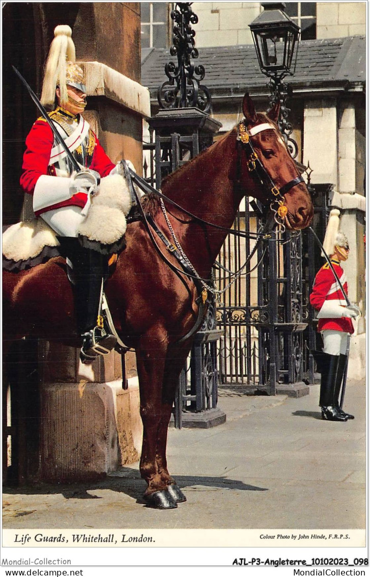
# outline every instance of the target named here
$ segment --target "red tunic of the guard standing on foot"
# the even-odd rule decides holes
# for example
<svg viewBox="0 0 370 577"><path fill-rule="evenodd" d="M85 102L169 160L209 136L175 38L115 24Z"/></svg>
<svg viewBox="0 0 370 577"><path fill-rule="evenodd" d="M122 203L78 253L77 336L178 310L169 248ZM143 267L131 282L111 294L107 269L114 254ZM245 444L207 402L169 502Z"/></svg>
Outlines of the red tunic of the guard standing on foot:
<svg viewBox="0 0 370 577"><path fill-rule="evenodd" d="M338 260L331 258L330 261L342 283L345 293L348 294L345 272ZM309 302L311 302L311 305L316 310L320 310L325 301L336 301L338 305L347 306L346 300L343 297L342 289L339 287L339 284L333 275L333 271L331 271L329 264L327 263L324 264L317 273L314 286L312 287L312 293L309 296ZM338 319L319 319L318 331L329 329L349 332L350 334L354 331L352 320L348 317L339 317Z"/></svg>

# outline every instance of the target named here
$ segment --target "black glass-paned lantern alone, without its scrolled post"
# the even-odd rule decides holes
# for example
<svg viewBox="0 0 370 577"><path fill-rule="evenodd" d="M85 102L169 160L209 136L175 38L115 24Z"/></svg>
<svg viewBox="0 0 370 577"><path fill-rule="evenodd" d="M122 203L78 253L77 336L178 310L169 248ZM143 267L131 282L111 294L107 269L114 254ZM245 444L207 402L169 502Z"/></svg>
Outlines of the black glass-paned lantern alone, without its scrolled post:
<svg viewBox="0 0 370 577"><path fill-rule="evenodd" d="M300 27L284 12L283 2L262 4L265 10L249 25L261 71L271 78L295 73L292 62Z"/></svg>

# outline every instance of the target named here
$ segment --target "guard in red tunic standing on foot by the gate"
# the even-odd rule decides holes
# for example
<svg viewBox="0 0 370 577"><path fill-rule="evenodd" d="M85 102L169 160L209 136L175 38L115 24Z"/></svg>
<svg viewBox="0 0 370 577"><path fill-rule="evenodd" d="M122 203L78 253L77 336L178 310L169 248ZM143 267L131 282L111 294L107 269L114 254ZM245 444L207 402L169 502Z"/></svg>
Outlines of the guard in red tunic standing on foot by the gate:
<svg viewBox="0 0 370 577"><path fill-rule="evenodd" d="M334 220L336 218L337 215L334 215ZM329 228L330 219L328 230ZM341 263L349 256L348 239L338 231L335 231L334 239L331 241L327 239L328 237L330 234L326 235L327 252L338 279L335 278L330 264L324 264L315 277L309 297L311 305L318 310L318 331L324 343L322 354L317 359L318 369L321 372L319 405L323 419L347 421L354 417L342 410L339 394L342 384L345 386L343 377L348 363L349 338L354 332L352 319L355 319L360 312L357 306L348 306L346 298L348 284Z"/></svg>

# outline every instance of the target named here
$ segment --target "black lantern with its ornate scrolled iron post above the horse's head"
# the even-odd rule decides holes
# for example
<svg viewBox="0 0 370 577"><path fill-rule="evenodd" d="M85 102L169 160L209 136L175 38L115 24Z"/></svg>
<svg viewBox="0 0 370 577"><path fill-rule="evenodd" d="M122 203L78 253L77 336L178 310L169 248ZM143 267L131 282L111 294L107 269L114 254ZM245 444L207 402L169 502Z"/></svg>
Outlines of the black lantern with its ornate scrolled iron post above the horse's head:
<svg viewBox="0 0 370 577"><path fill-rule="evenodd" d="M296 69L297 48L301 29L285 14L284 2L262 3L265 9L249 25L255 45L259 68L270 78L270 105L280 100L278 126L288 145L290 154L296 158L298 146L290 137L293 126L288 122L290 109L286 99L292 91L283 78L293 75Z"/></svg>

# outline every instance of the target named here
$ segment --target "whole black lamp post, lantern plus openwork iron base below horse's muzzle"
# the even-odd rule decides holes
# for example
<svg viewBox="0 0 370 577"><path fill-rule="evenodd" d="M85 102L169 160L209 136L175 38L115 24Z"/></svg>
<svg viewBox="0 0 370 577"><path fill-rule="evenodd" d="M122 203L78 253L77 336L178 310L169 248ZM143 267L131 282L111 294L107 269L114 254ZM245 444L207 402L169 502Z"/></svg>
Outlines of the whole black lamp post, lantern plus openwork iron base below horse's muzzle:
<svg viewBox="0 0 370 577"><path fill-rule="evenodd" d="M285 3L266 2L262 6L264 12L250 24L250 29L259 68L270 78L270 106L280 101L278 127L290 154L296 158L298 145L290 136L293 126L288 122L290 110L286 107L292 90L284 78L295 73L300 28L285 14ZM300 165L300 168L305 167ZM259 295L259 305L267 306L269 310L267 323L258 327L259 366L265 368L260 381L269 385L270 394L301 396L309 391L303 381L303 333L307 328L302 276L303 237L289 231L284 234L289 242L278 245L274 240L269 241L265 256L268 273L260 278L264 290Z"/></svg>

